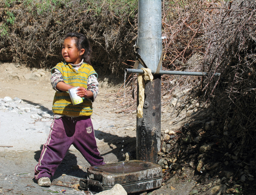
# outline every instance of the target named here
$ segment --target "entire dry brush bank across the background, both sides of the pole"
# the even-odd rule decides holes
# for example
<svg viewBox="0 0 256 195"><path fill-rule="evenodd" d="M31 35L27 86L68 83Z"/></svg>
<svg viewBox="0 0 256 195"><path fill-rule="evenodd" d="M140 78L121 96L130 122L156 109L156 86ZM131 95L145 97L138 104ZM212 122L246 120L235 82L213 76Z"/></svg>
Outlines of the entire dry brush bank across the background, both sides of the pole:
<svg viewBox="0 0 256 195"><path fill-rule="evenodd" d="M133 65L137 1L120 5L116 2L115 8L107 1L55 0L50 6L35 2L0 3L1 60L51 68L62 60L60 48L64 34L76 31L89 37L94 51L92 63L97 72L123 75L123 70ZM171 95L175 88L201 87L198 96L205 97L215 107L216 120L227 126L235 143L234 150L253 151L256 143L256 2L162 0L162 3L162 35L166 37L163 70L221 73L220 77L163 75L162 95ZM126 89L132 89L131 83L129 77ZM119 95L123 95L122 90ZM122 104L125 105L125 101ZM120 109L130 112L135 103ZM169 100L163 102L167 103ZM221 129L220 133L223 132Z"/></svg>

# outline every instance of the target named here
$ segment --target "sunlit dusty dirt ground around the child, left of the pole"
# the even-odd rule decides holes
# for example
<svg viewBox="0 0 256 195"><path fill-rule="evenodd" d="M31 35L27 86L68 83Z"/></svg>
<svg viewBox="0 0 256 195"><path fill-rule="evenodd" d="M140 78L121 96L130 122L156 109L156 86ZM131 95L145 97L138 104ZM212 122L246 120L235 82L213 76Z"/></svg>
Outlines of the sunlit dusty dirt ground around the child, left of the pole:
<svg viewBox="0 0 256 195"><path fill-rule="evenodd" d="M0 65L0 72L0 98L20 98L23 103L16 105L20 109L41 106L44 111L51 111L54 90L49 83L49 71L29 70L5 63ZM25 79L33 72L41 75L40 80ZM125 152L134 149L136 143L136 116L113 112L116 90L118 86L100 88L93 104L95 136L106 163L124 160ZM80 178L86 177L89 164L73 146L55 173L52 181L55 185L44 188L33 180L34 168L40 157L41 147L47 140L52 118L42 122L33 120L31 115L31 112L19 114L0 110L0 194L44 195L61 189L83 194L76 191L76 188Z"/></svg>

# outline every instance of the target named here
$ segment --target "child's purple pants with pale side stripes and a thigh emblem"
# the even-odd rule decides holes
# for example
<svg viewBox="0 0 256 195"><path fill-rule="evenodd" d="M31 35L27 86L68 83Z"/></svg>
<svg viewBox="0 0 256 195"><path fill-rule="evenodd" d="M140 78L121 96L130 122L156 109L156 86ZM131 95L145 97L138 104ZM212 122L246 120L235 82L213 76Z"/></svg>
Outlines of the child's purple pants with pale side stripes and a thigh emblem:
<svg viewBox="0 0 256 195"><path fill-rule="evenodd" d="M35 179L51 178L71 144L81 152L91 166L103 163L90 116L75 118L64 116L54 119L51 124L49 137L43 146L38 165L35 166Z"/></svg>

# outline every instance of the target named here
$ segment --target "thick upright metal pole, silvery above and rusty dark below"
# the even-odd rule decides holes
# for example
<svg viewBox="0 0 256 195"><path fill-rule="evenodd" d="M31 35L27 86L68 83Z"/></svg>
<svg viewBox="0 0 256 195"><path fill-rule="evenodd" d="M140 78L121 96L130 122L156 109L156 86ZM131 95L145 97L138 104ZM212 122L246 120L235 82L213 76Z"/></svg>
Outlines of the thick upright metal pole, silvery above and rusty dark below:
<svg viewBox="0 0 256 195"><path fill-rule="evenodd" d="M162 54L161 27L161 0L139 0L138 53L146 66L154 71ZM138 68L142 67L140 64ZM137 118L136 134L137 160L156 163L161 145L161 75L154 75L153 81L145 84L143 118Z"/></svg>

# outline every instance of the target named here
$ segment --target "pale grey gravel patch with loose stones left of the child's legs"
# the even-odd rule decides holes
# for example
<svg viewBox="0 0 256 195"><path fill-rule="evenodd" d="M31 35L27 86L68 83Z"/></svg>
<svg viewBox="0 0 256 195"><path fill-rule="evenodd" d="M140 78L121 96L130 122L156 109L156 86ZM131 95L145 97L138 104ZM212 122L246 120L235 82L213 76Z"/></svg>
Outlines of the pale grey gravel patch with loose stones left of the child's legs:
<svg viewBox="0 0 256 195"><path fill-rule="evenodd" d="M49 135L53 113L18 97L0 98L0 150L40 150Z"/></svg>

